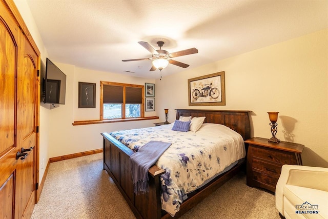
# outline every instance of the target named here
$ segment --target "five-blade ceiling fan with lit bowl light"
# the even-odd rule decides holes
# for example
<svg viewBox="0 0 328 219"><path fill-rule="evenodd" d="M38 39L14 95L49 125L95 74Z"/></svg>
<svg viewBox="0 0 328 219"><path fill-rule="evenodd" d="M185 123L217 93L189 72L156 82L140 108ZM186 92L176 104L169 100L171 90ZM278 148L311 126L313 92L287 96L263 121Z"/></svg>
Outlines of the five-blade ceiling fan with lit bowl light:
<svg viewBox="0 0 328 219"><path fill-rule="evenodd" d="M156 69L159 69L161 71L163 68L166 68L169 63L173 64L173 65L176 65L176 66L179 66L179 67L182 67L182 68L187 68L189 65L187 65L185 63L175 61L175 60L170 59L170 58L174 58L174 57L178 57L178 56L182 56L182 55L190 55L190 54L198 53L198 49L196 49L196 48L191 48L191 49L181 50L181 51L178 51L178 52L169 53L168 51L162 49L162 46L164 45L164 42L162 42L162 41L157 42L157 45L159 47L158 50L155 50L147 42L139 41L138 44L140 44L145 49L150 51L152 53L152 57L151 58L125 59L125 60L122 60L122 62L152 60L153 65L152 65L152 67L149 71L155 71Z"/></svg>

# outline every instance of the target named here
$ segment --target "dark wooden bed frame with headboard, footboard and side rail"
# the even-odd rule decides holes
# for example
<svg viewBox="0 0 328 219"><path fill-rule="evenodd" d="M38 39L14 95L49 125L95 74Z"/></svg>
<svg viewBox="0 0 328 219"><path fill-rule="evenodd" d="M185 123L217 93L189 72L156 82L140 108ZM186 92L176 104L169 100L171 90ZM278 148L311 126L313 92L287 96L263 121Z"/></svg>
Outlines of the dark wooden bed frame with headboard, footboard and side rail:
<svg viewBox="0 0 328 219"><path fill-rule="evenodd" d="M243 140L250 138L250 120L248 116L249 111L195 109L177 109L176 111L177 120L180 118L180 116L205 116L203 125L204 127L209 123L222 124L239 133ZM211 127L211 125L212 124L210 124L209 127ZM171 126L167 125L167 127L156 127L156 130L159 129L171 130ZM179 211L174 212L174 217L172 217L172 212L168 211L170 212L168 213L167 211L162 210L161 204L161 199L163 198L161 193L165 193L161 192L161 190L163 191L161 188L161 181L163 181L163 175L166 175L166 171L164 170L166 168L162 169L156 165L152 166L149 170L149 192L144 194L134 193L129 158L134 153L133 149L135 148L131 146L132 144L130 145L131 148L129 148L115 138L117 137L119 140L121 140L122 137L120 134L122 133L124 133L124 131L114 132L112 133L113 136L109 133L101 133L104 138L104 169L112 177L113 181L117 185L122 195L125 197L127 203L137 218L177 218L183 213L187 212L189 209L203 200L203 198L211 194L215 189L217 189L223 183L227 182L232 176L244 168L244 160L238 160L236 165L231 167L230 170L218 176L215 175L211 177L211 180L206 180L206 185L197 187L195 191L188 193L188 195L183 194L183 202L182 204L178 205ZM156 134L154 134L154 136L155 135ZM174 136L174 138L177 137ZM172 141L169 137L166 137L166 140ZM145 141L148 140L145 139ZM125 143L124 141L122 142ZM181 159L183 159L183 155L184 154L181 154ZM161 161L161 159L162 157L159 159L159 161ZM159 166L163 167L162 164ZM184 200L187 196L188 198Z"/></svg>

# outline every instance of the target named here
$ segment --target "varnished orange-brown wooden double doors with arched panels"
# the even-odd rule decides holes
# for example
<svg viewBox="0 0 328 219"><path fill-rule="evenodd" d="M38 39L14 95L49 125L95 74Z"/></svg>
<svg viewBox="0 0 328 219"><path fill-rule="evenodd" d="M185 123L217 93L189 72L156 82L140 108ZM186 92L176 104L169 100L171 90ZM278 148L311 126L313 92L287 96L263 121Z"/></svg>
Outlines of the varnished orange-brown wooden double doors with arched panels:
<svg viewBox="0 0 328 219"><path fill-rule="evenodd" d="M0 4L0 218L29 218L38 181L38 52L13 3Z"/></svg>

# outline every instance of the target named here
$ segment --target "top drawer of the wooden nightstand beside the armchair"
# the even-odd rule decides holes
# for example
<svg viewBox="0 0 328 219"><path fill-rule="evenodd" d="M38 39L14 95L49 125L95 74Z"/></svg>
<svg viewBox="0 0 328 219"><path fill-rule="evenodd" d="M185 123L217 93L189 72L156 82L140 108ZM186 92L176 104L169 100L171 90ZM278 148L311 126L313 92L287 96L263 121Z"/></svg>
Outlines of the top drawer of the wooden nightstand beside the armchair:
<svg viewBox="0 0 328 219"><path fill-rule="evenodd" d="M279 164L288 164L291 160L291 155L289 153L283 153L256 147L253 149L253 157L259 157L264 160L276 162Z"/></svg>

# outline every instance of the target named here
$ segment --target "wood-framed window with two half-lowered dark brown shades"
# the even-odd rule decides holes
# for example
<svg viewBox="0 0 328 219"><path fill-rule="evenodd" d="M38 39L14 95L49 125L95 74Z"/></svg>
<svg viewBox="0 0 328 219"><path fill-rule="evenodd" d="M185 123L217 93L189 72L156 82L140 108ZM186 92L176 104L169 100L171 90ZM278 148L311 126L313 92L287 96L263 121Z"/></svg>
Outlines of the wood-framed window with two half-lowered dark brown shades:
<svg viewBox="0 0 328 219"><path fill-rule="evenodd" d="M143 85L100 82L100 120L144 117Z"/></svg>

